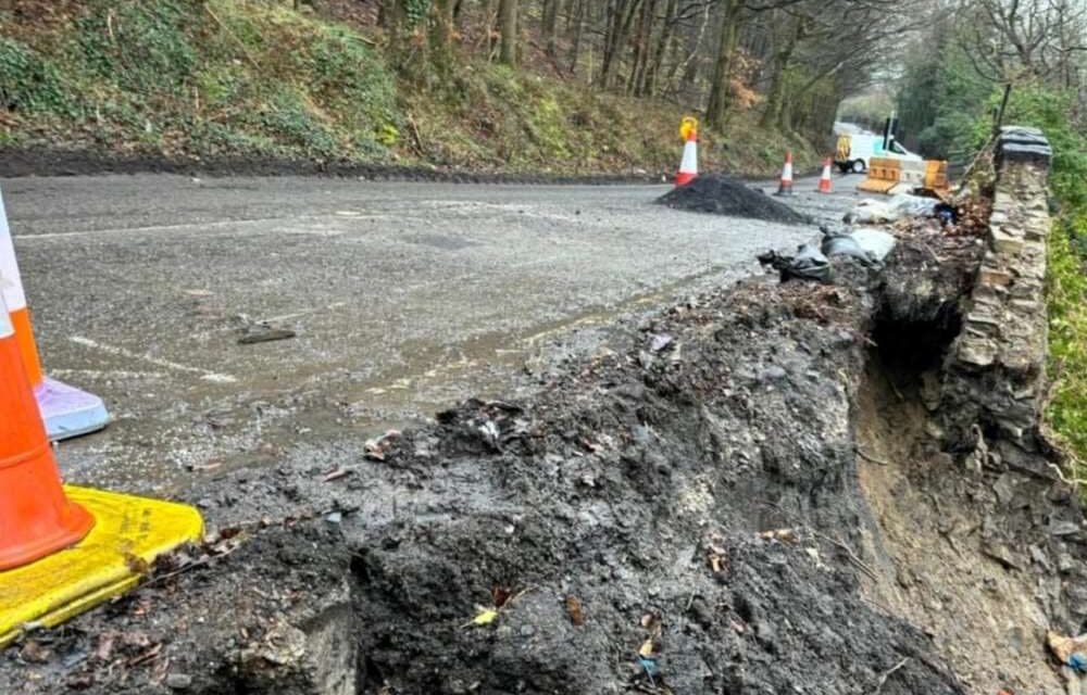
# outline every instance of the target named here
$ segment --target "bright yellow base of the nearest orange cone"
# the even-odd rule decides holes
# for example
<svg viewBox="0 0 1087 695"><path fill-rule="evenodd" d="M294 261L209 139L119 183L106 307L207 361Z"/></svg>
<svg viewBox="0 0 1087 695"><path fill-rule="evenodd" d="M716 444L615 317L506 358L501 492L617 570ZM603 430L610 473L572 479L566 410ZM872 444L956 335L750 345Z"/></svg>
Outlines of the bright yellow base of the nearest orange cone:
<svg viewBox="0 0 1087 695"><path fill-rule="evenodd" d="M0 648L123 594L139 583L140 560L203 535L200 513L183 504L68 485L64 492L90 511L95 528L71 548L0 572Z"/></svg>

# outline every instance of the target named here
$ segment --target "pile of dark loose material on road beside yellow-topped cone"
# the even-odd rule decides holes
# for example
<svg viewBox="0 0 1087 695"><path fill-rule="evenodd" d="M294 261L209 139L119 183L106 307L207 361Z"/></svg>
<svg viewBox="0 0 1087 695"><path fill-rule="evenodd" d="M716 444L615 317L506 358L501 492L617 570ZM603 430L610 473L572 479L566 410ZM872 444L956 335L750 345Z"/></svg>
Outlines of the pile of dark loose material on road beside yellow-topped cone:
<svg viewBox="0 0 1087 695"><path fill-rule="evenodd" d="M750 217L790 225L811 223L788 205L728 176L703 174L657 199L661 205L699 213Z"/></svg>

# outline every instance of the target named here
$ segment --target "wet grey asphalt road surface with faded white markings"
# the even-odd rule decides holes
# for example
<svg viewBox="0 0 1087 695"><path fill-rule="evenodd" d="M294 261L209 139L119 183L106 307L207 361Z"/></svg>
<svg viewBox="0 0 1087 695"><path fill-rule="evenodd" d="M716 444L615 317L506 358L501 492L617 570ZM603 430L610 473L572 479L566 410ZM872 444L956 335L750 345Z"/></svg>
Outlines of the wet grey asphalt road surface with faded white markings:
<svg viewBox="0 0 1087 695"><path fill-rule="evenodd" d="M821 197L802 179L787 202L837 218L855 182ZM47 371L115 417L63 443L61 467L137 492L286 456L334 468L348 442L501 394L555 336L759 273L755 254L816 233L660 207L651 186L0 185ZM239 344L260 321L297 336Z"/></svg>

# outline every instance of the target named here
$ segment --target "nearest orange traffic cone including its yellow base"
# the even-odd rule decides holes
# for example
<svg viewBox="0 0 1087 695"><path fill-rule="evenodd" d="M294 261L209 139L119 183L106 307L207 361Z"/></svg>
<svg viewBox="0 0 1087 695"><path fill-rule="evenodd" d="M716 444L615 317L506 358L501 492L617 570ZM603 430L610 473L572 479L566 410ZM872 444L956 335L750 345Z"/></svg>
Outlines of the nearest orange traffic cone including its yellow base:
<svg viewBox="0 0 1087 695"><path fill-rule="evenodd" d="M191 507L61 484L0 295L0 649L128 591L202 534Z"/></svg>

